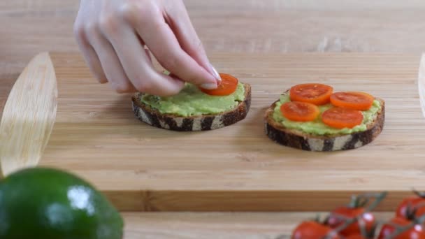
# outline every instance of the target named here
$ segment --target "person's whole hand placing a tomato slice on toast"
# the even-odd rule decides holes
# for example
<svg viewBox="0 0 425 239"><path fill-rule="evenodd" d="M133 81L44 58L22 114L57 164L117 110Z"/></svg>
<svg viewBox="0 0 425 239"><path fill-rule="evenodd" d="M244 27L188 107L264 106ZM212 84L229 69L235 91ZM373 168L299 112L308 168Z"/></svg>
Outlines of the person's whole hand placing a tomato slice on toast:
<svg viewBox="0 0 425 239"><path fill-rule="evenodd" d="M219 82L182 0L82 0L74 34L90 71L116 92L169 96L185 81ZM172 76L154 69L149 51Z"/></svg>

